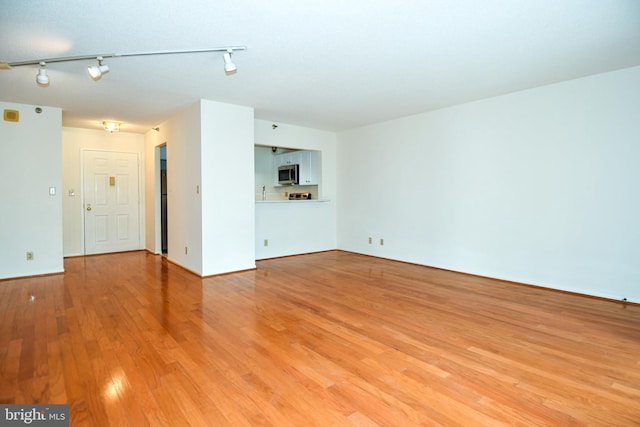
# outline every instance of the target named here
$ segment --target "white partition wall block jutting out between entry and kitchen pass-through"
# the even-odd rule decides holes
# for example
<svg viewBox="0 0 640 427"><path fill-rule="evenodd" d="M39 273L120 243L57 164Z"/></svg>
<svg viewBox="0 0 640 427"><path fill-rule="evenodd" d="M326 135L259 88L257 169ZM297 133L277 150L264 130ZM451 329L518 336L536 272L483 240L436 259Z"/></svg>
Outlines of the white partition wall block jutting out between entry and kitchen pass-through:
<svg viewBox="0 0 640 427"><path fill-rule="evenodd" d="M200 276L254 268L253 109L201 100L157 129L145 134L146 247L159 252L155 147L166 144L168 258Z"/></svg>

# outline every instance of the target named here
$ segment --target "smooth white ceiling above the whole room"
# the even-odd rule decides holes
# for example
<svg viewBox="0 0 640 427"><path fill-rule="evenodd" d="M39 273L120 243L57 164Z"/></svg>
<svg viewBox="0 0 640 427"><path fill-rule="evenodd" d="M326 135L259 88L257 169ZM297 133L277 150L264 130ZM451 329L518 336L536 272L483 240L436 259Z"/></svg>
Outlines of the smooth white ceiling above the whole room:
<svg viewBox="0 0 640 427"><path fill-rule="evenodd" d="M244 45L0 70L0 100L146 132L200 98L342 130L640 65L639 0L0 0L0 60Z"/></svg>

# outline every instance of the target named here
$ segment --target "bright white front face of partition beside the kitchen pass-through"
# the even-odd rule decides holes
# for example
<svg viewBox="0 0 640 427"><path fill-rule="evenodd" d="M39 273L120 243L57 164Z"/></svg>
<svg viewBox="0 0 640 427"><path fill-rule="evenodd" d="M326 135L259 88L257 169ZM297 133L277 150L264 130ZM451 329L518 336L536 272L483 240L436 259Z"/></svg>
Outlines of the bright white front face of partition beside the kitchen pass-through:
<svg viewBox="0 0 640 427"><path fill-rule="evenodd" d="M200 101L201 275L255 268L253 108Z"/></svg>

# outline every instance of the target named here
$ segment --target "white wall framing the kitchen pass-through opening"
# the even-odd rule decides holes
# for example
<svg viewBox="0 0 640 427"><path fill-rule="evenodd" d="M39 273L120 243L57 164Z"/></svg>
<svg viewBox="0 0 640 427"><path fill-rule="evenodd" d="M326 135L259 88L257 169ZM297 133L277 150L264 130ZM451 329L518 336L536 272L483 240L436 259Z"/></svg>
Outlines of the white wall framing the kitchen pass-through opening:
<svg viewBox="0 0 640 427"><path fill-rule="evenodd" d="M336 249L336 134L333 132L265 120L255 121L255 143L279 148L321 152L322 183L319 198L325 202L256 202L256 259ZM268 176L257 176L262 188ZM264 240L268 246L264 246Z"/></svg>

